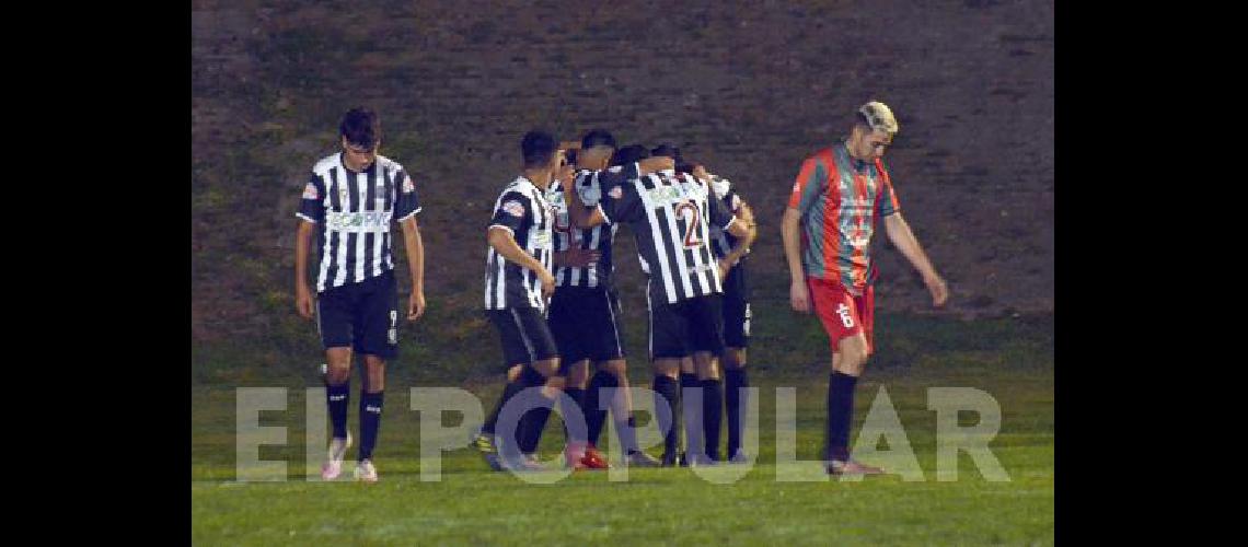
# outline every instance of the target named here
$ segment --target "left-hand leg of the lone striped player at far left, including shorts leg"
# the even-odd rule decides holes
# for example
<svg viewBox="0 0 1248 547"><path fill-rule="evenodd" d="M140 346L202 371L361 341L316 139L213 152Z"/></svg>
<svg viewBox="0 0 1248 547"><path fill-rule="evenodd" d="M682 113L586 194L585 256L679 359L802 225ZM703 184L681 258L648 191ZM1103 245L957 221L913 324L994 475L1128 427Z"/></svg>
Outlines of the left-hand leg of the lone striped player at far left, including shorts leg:
<svg viewBox="0 0 1248 547"><path fill-rule="evenodd" d="M326 359L326 407L332 431L321 478L332 481L342 473L342 460L351 447L347 407L351 404L352 297L353 285L326 290L317 298L317 330Z"/></svg>

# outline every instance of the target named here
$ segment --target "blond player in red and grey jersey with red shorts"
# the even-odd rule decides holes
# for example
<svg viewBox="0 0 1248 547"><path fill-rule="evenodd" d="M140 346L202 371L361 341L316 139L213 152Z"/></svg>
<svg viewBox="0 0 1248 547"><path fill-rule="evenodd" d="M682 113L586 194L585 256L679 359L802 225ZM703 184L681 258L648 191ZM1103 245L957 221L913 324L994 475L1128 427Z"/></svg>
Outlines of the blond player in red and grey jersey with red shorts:
<svg viewBox="0 0 1248 547"><path fill-rule="evenodd" d="M790 304L801 313L814 309L832 349L824 455L831 475L884 472L849 454L854 388L874 348L876 270L870 247L881 219L889 239L922 274L932 304L943 305L948 298L945 280L901 217L882 162L897 128L886 105L862 105L844 141L801 163L781 224Z"/></svg>

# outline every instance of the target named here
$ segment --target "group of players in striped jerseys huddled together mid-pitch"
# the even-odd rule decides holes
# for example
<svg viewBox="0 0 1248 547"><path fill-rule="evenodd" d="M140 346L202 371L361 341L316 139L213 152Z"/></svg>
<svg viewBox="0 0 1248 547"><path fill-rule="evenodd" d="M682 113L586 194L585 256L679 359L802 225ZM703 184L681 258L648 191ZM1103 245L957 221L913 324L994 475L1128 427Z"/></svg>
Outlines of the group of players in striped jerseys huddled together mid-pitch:
<svg viewBox="0 0 1248 547"><path fill-rule="evenodd" d="M607 467L595 447L607 415L602 406L612 410L628 465L676 465L674 416L681 414L689 417L684 420L689 446L681 460L719 460L724 389L716 364L725 350L724 278L730 264L744 268L739 260L755 237L749 208L728 194L728 181L718 179L716 192L709 177L694 176L705 176L705 169L680 161L675 148L655 148L655 153L641 146L617 148L609 132L594 130L580 140L575 162L569 162L558 145L548 133L525 135L520 145L524 172L494 204L485 308L502 338L509 380L474 446L492 469L542 469L533 451L553 399L562 391L567 396L559 400L569 405L563 414L577 412L587 422L584 430L565 427L564 456L574 469ZM740 216L725 199L736 204ZM626 389L618 389L628 386L619 298L612 283L612 243L622 223L631 227L649 278L655 417L665 432L661 459L638 449L631 400ZM713 244L725 233L736 238L730 249ZM734 297L745 299L744 294ZM744 323L735 326L748 329ZM699 373L691 388L701 391L701 404L681 405L681 360L686 358ZM548 399L517 420L518 439L507 442L513 437L499 435L499 415L528 388L540 388ZM603 399L607 405L600 405ZM739 397L733 401L740 402ZM681 406L685 412L678 411ZM705 435L696 431L696 424ZM705 445L693 445L704 436ZM739 440L739 431L731 437ZM739 445L730 444L729 452L745 457Z"/></svg>

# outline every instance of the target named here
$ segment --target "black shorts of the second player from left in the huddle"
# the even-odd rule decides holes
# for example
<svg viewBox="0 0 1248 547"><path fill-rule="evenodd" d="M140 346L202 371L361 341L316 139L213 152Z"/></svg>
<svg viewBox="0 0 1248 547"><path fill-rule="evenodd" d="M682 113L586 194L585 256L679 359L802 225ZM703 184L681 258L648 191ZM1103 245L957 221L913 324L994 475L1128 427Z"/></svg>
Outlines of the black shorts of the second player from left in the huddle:
<svg viewBox="0 0 1248 547"><path fill-rule="evenodd" d="M620 300L604 287L559 287L550 298L550 331L563 363L624 358Z"/></svg>

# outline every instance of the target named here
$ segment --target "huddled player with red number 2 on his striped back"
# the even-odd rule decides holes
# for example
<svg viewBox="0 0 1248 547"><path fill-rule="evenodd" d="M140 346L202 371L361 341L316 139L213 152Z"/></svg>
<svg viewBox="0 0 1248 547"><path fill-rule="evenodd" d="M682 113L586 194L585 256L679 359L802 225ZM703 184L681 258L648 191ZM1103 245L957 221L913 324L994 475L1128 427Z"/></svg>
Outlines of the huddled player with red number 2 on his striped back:
<svg viewBox="0 0 1248 547"><path fill-rule="evenodd" d="M648 152L643 148L643 152ZM663 465L676 461L675 409L680 405L680 360L693 355L699 370L711 370L723 351L719 298L721 273L710 249L710 226L736 237L754 232L710 197L705 184L676 173L675 162L660 159L658 173L603 184L603 197L590 211L569 206L575 226L629 223L649 282L650 355L654 360L655 414L664 435ZM706 397L709 399L709 397ZM708 401L706 407L721 401Z"/></svg>

